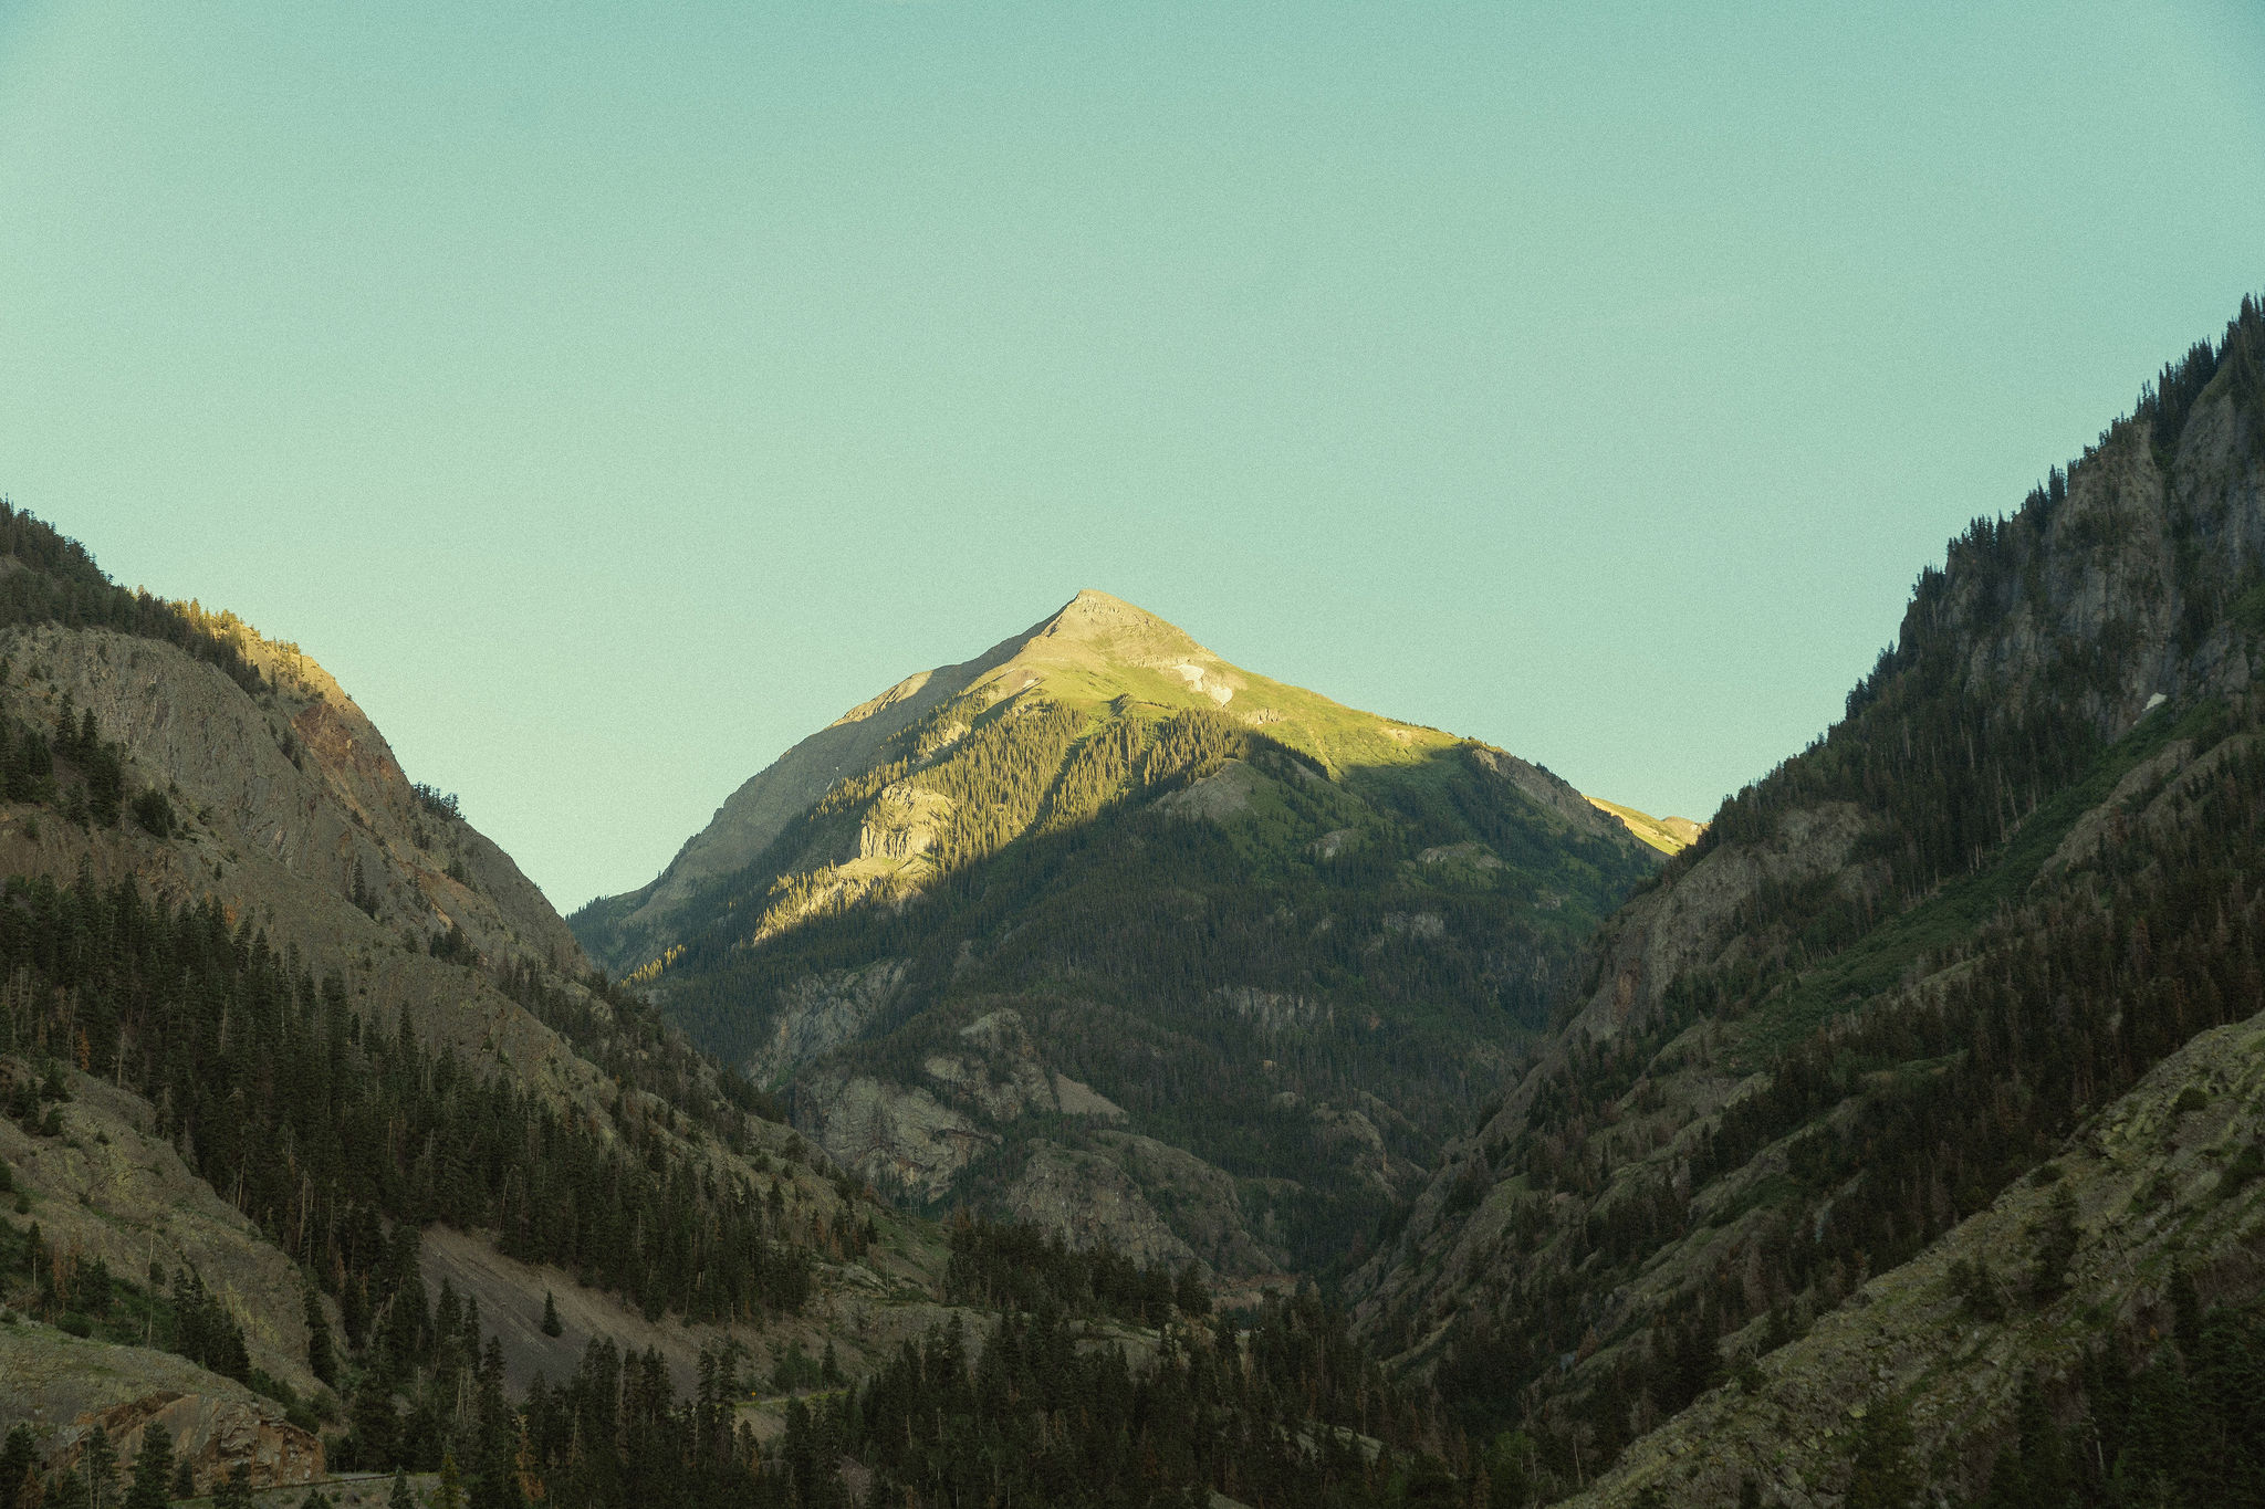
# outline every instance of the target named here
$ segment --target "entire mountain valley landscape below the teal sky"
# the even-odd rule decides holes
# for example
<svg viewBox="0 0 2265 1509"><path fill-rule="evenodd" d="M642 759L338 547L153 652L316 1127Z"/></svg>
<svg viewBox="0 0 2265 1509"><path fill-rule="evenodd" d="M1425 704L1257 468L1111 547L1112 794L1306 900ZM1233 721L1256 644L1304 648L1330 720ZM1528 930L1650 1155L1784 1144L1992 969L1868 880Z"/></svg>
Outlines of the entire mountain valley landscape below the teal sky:
<svg viewBox="0 0 2265 1509"><path fill-rule="evenodd" d="M1085 590L562 919L0 545L0 1509L2265 1502L2256 301L1703 826Z"/></svg>

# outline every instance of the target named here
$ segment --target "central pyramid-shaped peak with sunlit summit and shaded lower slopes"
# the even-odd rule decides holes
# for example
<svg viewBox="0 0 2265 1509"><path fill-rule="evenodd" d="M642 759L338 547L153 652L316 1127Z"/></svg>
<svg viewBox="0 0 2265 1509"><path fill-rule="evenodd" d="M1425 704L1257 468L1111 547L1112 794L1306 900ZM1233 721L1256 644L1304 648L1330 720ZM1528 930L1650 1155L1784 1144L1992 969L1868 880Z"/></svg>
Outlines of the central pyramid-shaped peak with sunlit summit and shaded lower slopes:
<svg viewBox="0 0 2265 1509"><path fill-rule="evenodd" d="M1253 1278L1366 1240L1656 862L1536 765L1087 590L571 925L877 1188Z"/></svg>

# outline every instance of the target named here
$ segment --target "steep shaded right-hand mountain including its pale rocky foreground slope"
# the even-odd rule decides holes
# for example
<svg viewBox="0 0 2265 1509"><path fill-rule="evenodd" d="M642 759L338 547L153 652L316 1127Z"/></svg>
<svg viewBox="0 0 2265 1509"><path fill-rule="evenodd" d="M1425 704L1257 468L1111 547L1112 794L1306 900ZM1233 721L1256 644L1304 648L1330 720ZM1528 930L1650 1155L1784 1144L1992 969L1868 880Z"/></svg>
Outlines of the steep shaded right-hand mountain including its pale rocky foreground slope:
<svg viewBox="0 0 2265 1509"><path fill-rule="evenodd" d="M1493 1502L2258 1502L2265 310L1921 575L1354 1274Z"/></svg>

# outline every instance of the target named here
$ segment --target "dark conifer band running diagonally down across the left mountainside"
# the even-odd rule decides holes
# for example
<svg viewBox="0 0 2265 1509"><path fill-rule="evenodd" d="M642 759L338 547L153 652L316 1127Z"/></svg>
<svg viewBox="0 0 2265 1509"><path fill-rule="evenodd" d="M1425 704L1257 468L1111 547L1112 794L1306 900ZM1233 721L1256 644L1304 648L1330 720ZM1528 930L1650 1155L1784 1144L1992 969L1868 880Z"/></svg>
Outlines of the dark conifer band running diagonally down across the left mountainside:
<svg viewBox="0 0 2265 1509"><path fill-rule="evenodd" d="M650 1314L745 1317L809 1292L813 1233L680 1156L641 1104L625 1097L602 1138L428 1050L408 1016L381 1032L335 973L317 982L215 903L14 878L0 971L23 986L0 1054L61 1057L145 1095L159 1136L337 1296L353 1344L399 1283L392 1233L428 1222L492 1231Z"/></svg>

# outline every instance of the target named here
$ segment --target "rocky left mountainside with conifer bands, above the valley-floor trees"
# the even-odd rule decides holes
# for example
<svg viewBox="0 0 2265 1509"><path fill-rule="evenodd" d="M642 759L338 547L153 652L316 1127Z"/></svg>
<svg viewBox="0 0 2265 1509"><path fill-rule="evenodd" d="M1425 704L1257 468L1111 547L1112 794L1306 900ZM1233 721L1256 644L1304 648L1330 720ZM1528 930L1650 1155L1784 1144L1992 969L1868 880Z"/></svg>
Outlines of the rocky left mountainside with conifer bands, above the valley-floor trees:
<svg viewBox="0 0 2265 1509"><path fill-rule="evenodd" d="M593 1337L689 1389L949 1314L938 1235L605 984L319 665L5 502L0 975L0 1502L95 1423L197 1482L501 1482L476 1396Z"/></svg>

